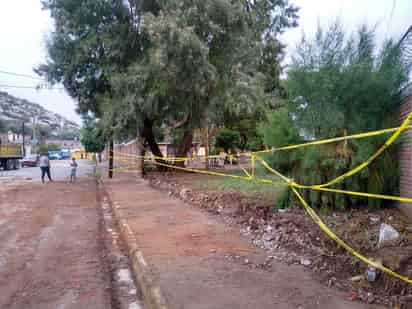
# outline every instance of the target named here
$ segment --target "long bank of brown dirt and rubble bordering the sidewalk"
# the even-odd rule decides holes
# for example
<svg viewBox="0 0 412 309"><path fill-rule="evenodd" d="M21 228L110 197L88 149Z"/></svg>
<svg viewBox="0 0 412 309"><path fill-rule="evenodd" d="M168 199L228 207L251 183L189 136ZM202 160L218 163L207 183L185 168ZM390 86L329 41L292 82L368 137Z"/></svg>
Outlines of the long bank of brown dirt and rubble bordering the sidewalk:
<svg viewBox="0 0 412 309"><path fill-rule="evenodd" d="M323 284L346 291L349 299L412 308L412 285L381 273L377 273L374 282L367 281L367 265L337 246L301 208L279 212L272 202L259 196L199 189L193 185L194 177L207 181L206 176L183 173L153 173L148 179L170 196L221 215L229 224L239 225L242 235L266 250L265 267L270 268L270 260L301 264ZM323 216L323 219L363 255L412 277L412 225L397 209L374 212L354 209ZM381 223L394 227L400 234L399 239L379 245Z"/></svg>

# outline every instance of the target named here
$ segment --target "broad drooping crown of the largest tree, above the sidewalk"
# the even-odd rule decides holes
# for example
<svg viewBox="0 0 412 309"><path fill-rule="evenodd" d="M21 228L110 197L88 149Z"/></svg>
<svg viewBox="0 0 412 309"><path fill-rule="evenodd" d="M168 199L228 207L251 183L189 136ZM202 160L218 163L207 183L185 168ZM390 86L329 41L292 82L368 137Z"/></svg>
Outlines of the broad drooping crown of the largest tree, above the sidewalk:
<svg viewBox="0 0 412 309"><path fill-rule="evenodd" d="M278 88L277 36L297 19L288 0L42 2L55 27L36 71L118 138L256 118Z"/></svg>

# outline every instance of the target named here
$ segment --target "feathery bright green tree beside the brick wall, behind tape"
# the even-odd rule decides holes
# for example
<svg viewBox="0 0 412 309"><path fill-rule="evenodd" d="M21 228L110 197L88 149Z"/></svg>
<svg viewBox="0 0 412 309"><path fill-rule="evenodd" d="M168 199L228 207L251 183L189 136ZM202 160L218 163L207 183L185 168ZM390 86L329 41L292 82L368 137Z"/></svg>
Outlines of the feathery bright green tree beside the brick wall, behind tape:
<svg viewBox="0 0 412 309"><path fill-rule="evenodd" d="M345 35L339 22L327 30L319 29L313 39L303 36L288 71L289 101L285 110L269 115L261 125L265 143L281 146L300 139L329 138L395 125L396 94L407 82L410 71L400 56L401 51L392 41L377 50L374 32L365 26L352 37ZM365 161L385 138L276 153L272 164L281 166L283 172L301 183L324 183ZM338 188L396 195L396 156L396 147L390 148ZM311 192L307 197L314 206L338 208L382 203L320 192Z"/></svg>

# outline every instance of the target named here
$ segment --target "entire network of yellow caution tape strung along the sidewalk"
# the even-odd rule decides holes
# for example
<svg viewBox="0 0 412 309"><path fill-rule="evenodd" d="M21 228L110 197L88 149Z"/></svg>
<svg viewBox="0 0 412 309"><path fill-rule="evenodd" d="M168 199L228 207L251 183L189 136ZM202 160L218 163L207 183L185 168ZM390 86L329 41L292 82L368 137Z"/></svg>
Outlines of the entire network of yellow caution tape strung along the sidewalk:
<svg viewBox="0 0 412 309"><path fill-rule="evenodd" d="M222 176L222 177L230 177L230 178L236 178L236 179L241 179L241 180L247 180L247 181L256 181L256 182L261 182L261 183L269 183L269 184L275 184L273 180L270 179L263 179L263 178L258 178L255 177L255 165L256 161L259 161L263 167L265 167L268 171L270 171L272 174L276 175L277 177L281 178L294 192L298 200L301 202L303 205L304 209L308 213L308 215L312 218L312 220L320 227L320 229L325 232L327 236L329 236L331 239L333 239L338 245L341 247L345 248L350 254L358 258L359 260L363 261L366 264L369 264L377 269L380 269L381 271L397 278L400 279L404 282L407 282L409 284L412 284L412 279L409 279L407 277L404 277L391 269L383 266L382 264L373 261L371 259L368 259L367 257L363 256L359 252L357 252L355 249L353 249L351 246L346 244L342 239L340 239L336 234L334 234L327 226L326 224L321 220L321 218L316 214L316 212L309 206L309 204L306 202L306 200L302 197L302 195L298 192L297 188L301 189L311 189L311 190L318 190L318 191L325 191L325 192L332 192L332 193L341 193L341 194L349 194L349 195L354 195L354 196L362 196L362 197L368 197L368 198L380 198L380 199L387 199L387 200L394 200L394 201L401 201L401 202L408 202L412 203L412 198L405 198L405 197L396 197L396 196L389 196L389 195L382 195L382 194L372 194L372 193L364 193L364 192L356 192L356 191L347 191L347 190L339 190L339 189L330 189L330 188L325 188L328 186L331 186L333 184L336 184L338 182L343 181L344 179L353 176L354 174L360 172L362 169L368 167L373 160L375 160L377 157L379 157L383 151L386 150L390 145L392 145L395 140L399 137L399 135L404 132L407 129L411 129L412 126L409 125L410 121L412 119L412 113L408 115L406 120L402 123L402 125L398 128L391 128L391 129L385 129L385 130L379 130L379 131L373 131L373 132L368 132L368 133L361 133L361 134L355 134L355 135L350 135L350 136L345 136L345 137L338 137L338 138L332 138L332 139L325 139L325 140L319 140L319 141L313 141L313 142L308 142L308 143L303 143L303 144L297 144L297 145L291 145L291 146L285 146L285 147L278 147L278 148L273 148L271 150L265 150L265 151L258 151L258 152L252 152L252 153L247 153L247 154L241 154L239 156L249 156L251 158L251 173L249 173L245 168L240 167L240 169L245 173L246 176L238 176L238 175L232 175L232 174L226 174L226 173L221 173L221 172L213 172L213 171L205 171L205 170L198 170L198 169L193 169L193 168L187 168L187 167L180 167L176 165L170 165L162 162L182 162L182 161L189 161L189 160L197 160L200 157L197 158L170 158L170 157L143 157L143 156L138 156L138 155L132 155L132 154L124 154L124 153L119 153L120 160L126 161L126 162L132 162L132 158L141 158L146 162L151 162L152 164L155 165L160 165L160 166L165 166L169 168L173 168L176 170L182 170L182 171L187 171L187 172L192 172L192 173L199 173L199 174L207 174L207 175L213 175L213 176ZM340 175L336 177L335 179L324 183L320 185L301 185L298 183L295 183L292 179L284 176L277 170L273 169L272 167L269 166L269 164L260 158L257 154L260 153L269 153L269 152L274 152L274 151L283 151L283 150L291 150L291 149L297 149L301 147L307 147L307 146L312 146L312 145L322 145L322 144L327 144L327 143L333 143L333 142L338 142L338 141L344 141L344 140L349 140L349 139L359 139L359 138L366 138L366 137L371 137L371 136L378 136L381 134L386 134L386 133L391 133L394 132L388 139L387 141L373 154L371 155L365 162L359 164L357 167L354 169L346 172L343 175ZM123 159L122 159L123 157ZM235 158L238 156L230 155L230 158ZM202 158L222 158L222 156L202 156ZM156 161L157 160L157 161ZM161 161L161 162L159 162ZM119 170L123 169L130 169L130 167L124 167L124 168L119 168Z"/></svg>

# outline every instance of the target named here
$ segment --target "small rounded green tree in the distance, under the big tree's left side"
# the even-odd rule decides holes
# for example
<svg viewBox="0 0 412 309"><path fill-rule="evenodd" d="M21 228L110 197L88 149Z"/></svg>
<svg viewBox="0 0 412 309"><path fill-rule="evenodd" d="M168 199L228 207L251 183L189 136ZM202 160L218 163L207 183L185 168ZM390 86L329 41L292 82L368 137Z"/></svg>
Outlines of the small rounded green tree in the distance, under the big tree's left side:
<svg viewBox="0 0 412 309"><path fill-rule="evenodd" d="M86 152L101 153L105 148L107 139L99 122L87 120L82 129L80 141Z"/></svg>

